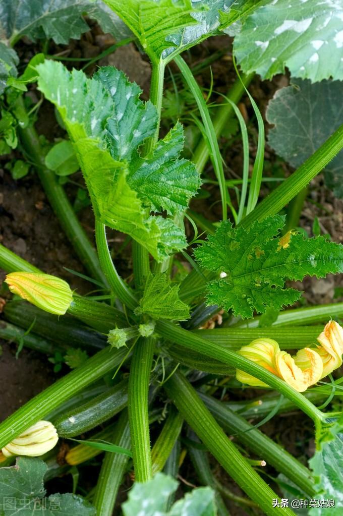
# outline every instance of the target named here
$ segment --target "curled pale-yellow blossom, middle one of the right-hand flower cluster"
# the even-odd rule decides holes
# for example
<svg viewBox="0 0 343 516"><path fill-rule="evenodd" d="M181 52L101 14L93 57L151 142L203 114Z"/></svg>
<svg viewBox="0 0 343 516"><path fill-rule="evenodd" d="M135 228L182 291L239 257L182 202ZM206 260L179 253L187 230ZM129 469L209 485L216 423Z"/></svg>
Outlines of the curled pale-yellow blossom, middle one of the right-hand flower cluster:
<svg viewBox="0 0 343 516"><path fill-rule="evenodd" d="M310 348L300 349L295 358L286 351L275 355L277 376L285 380L293 389L304 392L322 378L323 363L319 354Z"/></svg>

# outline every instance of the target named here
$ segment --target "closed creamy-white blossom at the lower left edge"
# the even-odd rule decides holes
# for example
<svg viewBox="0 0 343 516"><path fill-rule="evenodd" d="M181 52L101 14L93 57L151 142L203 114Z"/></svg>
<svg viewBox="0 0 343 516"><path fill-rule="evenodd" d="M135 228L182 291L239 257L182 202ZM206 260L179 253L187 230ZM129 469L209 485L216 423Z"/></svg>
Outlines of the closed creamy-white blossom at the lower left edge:
<svg viewBox="0 0 343 516"><path fill-rule="evenodd" d="M25 455L39 457L56 446L58 441L57 430L50 421L38 421L30 426L19 437L13 439L2 448L5 457Z"/></svg>

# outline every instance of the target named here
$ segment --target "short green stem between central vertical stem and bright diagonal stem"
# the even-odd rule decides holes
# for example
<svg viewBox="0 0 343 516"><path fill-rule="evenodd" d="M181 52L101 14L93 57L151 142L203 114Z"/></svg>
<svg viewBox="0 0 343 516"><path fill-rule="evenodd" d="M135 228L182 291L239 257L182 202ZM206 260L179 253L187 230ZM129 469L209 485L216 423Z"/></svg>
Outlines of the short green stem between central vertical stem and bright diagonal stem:
<svg viewBox="0 0 343 516"><path fill-rule="evenodd" d="M175 442L181 432L184 419L173 407L151 450L153 475L164 469Z"/></svg>

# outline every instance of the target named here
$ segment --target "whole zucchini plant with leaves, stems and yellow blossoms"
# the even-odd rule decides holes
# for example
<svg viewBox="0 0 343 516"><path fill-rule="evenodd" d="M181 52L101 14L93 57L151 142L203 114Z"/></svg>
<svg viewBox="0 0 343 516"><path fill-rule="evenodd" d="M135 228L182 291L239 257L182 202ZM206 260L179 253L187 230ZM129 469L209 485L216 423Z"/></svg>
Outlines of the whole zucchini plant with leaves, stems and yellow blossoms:
<svg viewBox="0 0 343 516"><path fill-rule="evenodd" d="M343 329L336 321L328 323L342 317L342 305L283 309L302 295L287 281L343 272L342 245L323 236L305 238L297 221L289 227L292 213L285 214L288 203L317 174L330 170L343 148L343 125L337 114L335 127L322 128L313 152L303 151L300 158L288 144L299 122L299 92L287 89L276 95L267 114L275 124L270 141L298 168L259 200L264 122L246 87L255 72L271 78L285 67L295 84L305 88L309 81L341 80L340 0L41 0L30 7L27 11L25 0L0 1L2 152L18 147L27 159L27 166L22 160L17 166L17 179L30 166L37 169L89 275L84 279L101 294L81 296L66 281L0 245L0 266L15 296L6 303L0 336L50 357L59 353L62 361L66 356L73 368L0 424L0 502L11 498L17 507L24 493L25 510L32 514L47 503L50 514L63 510L109 516L124 474L133 471L135 485L118 509L125 516L225 516L225 498L252 514L290 515L297 506L290 497L287 504L280 501L287 492L307 502L310 516L324 513L326 499L334 501L330 514L338 515L343 418L335 409L341 379L331 376L331 384L320 380L342 363ZM149 58L149 100L142 100L140 87L115 67L99 67L90 76L87 69L67 67L59 56L48 55L47 40L67 43L87 30L85 13L116 37L111 52L134 41ZM213 117L181 54L223 33L234 36L238 78ZM45 41L24 71L13 49L23 36ZM193 98L203 134L191 159L184 154L183 124L166 127L164 119L161 127L165 72L172 62ZM316 87L321 91L326 83ZM30 88L52 103L66 132L53 148L42 147L36 133L40 106L28 112ZM251 177L248 132L236 105L246 91L258 126ZM287 95L292 101L289 119L280 106ZM230 195L218 141L233 115L244 153L237 198ZM287 140L280 134L285 127ZM209 158L221 204L215 224L189 210ZM94 213L95 249L58 180L77 169ZM206 234L199 236L197 225ZM133 275L128 279L117 270L107 228L123 233L131 244ZM180 256L189 263L182 275L174 267ZM218 316L223 328L202 329ZM288 353L291 349L297 354ZM53 358L55 367L58 357ZM225 383L236 395L230 404L219 396ZM244 401L241 392L247 385L262 387L267 395ZM333 400L336 404L324 410ZM307 465L258 429L278 413L295 409L313 422L316 452ZM260 421L253 425L251 418ZM54 438L44 433L46 428ZM69 443L62 462L56 432ZM42 458L28 457L32 449L43 450L36 454ZM77 491L76 467L104 452L91 490ZM185 454L199 483L207 487L175 502L177 482L171 477L178 477ZM242 496L222 486L209 454ZM15 455L19 458L13 466ZM280 474L272 485L259 468L266 463ZM68 473L73 493L45 496L43 481ZM4 506L4 514L14 514L16 507Z"/></svg>

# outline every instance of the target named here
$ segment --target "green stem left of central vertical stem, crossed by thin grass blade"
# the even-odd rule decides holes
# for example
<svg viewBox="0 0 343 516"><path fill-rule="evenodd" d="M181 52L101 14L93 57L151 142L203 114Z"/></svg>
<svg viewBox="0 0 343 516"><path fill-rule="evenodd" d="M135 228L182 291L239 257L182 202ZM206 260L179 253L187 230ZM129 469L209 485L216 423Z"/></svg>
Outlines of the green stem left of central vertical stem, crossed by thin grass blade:
<svg viewBox="0 0 343 516"><path fill-rule="evenodd" d="M111 442L126 449L130 447L131 439L127 410L123 410L121 413ZM127 455L107 451L93 498L93 505L97 514L112 516L127 462Z"/></svg>

